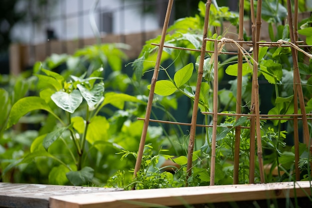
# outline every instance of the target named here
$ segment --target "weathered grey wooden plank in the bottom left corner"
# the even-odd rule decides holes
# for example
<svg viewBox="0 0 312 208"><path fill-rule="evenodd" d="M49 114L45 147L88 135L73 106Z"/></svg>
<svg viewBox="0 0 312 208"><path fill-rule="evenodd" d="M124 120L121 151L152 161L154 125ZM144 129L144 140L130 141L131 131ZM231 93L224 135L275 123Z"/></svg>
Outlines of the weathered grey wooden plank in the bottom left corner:
<svg viewBox="0 0 312 208"><path fill-rule="evenodd" d="M113 191L121 189L0 183L0 208L48 208L52 196Z"/></svg>

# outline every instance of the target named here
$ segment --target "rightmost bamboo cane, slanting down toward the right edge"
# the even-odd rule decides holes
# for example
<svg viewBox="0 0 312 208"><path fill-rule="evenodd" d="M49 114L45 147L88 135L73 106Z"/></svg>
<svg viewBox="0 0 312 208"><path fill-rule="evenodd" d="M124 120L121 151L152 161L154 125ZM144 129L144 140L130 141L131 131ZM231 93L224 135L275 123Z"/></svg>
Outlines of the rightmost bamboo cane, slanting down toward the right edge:
<svg viewBox="0 0 312 208"><path fill-rule="evenodd" d="M290 33L290 38L291 42L295 43L295 32L294 32L294 26L293 26L293 15L292 15L292 5L291 1L287 0L287 11L288 11L288 22L289 22L289 33ZM304 100L304 95L302 91L302 86L301 86L301 80L300 80L300 73L299 73L299 65L298 65L298 56L297 56L297 51L294 47L291 47L292 49L292 55L293 55L293 67L294 67L294 88L298 93L299 97L299 103L300 103L300 108L301 108L301 113L302 113L302 122L303 122L303 133L304 133L304 141L307 146L311 145L311 138L309 134L309 127L308 127L308 119L307 119L307 114L306 114L306 107L305 107L305 100ZM296 128L296 127L295 127ZM298 128L298 126L297 126ZM310 153L312 153L312 147L309 147ZM311 163L310 163L311 166Z"/></svg>

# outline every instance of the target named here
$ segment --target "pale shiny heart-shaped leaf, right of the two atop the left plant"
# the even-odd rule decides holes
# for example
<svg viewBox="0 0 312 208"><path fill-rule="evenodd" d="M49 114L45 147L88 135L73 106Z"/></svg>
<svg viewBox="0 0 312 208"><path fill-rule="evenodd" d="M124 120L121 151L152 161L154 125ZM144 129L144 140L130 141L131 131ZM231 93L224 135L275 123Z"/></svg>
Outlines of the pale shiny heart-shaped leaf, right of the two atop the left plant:
<svg viewBox="0 0 312 208"><path fill-rule="evenodd" d="M103 99L104 86L103 84L95 84L94 87L89 90L81 84L77 84L77 87L82 95L82 97L87 101L89 109L94 109L94 107L99 104Z"/></svg>

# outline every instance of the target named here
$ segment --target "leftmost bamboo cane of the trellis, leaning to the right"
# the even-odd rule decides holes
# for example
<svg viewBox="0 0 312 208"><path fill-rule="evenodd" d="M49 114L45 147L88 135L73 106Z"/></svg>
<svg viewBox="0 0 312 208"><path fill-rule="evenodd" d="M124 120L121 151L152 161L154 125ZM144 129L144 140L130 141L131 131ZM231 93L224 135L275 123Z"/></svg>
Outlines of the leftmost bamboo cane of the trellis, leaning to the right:
<svg viewBox="0 0 312 208"><path fill-rule="evenodd" d="M164 38L165 38L167 28L168 28L172 4L173 4L173 0L169 0L165 19L164 19L164 23L163 23L163 28L162 28L161 39L160 39L158 53L157 53L157 59L156 59L154 74L153 74L152 81L151 81L151 90L150 90L149 100L148 100L148 104L147 104L147 110L146 110L146 115L145 115L142 135L141 135L138 157L137 157L136 166L135 166L135 170L134 170L134 178L137 177L137 173L140 170L141 163L142 163L145 140L146 140L148 127L149 127L149 121L150 121L150 117L151 117L155 86L156 86L156 81L158 78L158 72L159 72L159 67L160 67L160 59L161 59L161 54L162 54L162 49L163 49L163 44L164 44Z"/></svg>

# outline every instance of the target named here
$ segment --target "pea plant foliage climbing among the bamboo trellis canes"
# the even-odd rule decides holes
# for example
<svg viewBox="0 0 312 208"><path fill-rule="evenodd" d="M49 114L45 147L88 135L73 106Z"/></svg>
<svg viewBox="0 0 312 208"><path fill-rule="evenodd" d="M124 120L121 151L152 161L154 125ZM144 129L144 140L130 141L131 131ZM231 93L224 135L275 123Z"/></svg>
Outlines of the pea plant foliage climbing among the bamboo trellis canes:
<svg viewBox="0 0 312 208"><path fill-rule="evenodd" d="M277 9L275 13L270 13L271 7L275 6ZM162 67L161 71L164 72L166 78L158 80L156 82L155 94L160 96L172 96L178 98L179 96L186 96L190 100L193 100L194 97L194 74L198 66L199 53L198 50L200 47L201 36L198 34L202 33L203 20L205 6L203 2L199 2L199 14L195 17L186 17L178 19L168 30L171 32L165 37L165 47L162 55L162 63L165 61L171 61L174 65L174 73L169 72L169 69ZM233 25L237 25L238 16L235 13L229 12L224 7L216 7L211 5L211 13L209 16L209 25L211 26L208 29L208 36L210 39L221 39L226 36L226 31L222 31L222 34L213 34L211 31L214 26L220 26L222 20L229 20ZM280 24L282 19L287 16L287 9L279 2L267 1L263 8L263 13L265 19L269 22L269 33L272 41L283 40L283 42L290 41L290 33L288 24ZM275 15L276 14L276 15ZM221 20L220 20L221 19ZM300 23L301 28L298 32L302 35L307 36L307 43L311 43L311 33L309 32L311 27L307 25L311 22L311 18L303 20ZM276 26L277 31L273 31L273 26ZM245 39L250 39L245 34ZM156 56L156 45L151 43L158 43L160 37L156 37L147 42L144 46L139 58L133 62L135 69L135 75L137 81L141 80L142 74L148 73L149 69L153 67ZM185 50L189 48L190 50ZM182 50L183 49L183 50ZM194 50L192 50L194 49ZM207 43L207 51L213 50L213 44ZM204 74L203 80L200 87L200 99L199 99L199 109L201 112L211 112L210 107L212 106L212 81L213 79L221 80L225 74L227 76L234 77L233 80L229 81L230 89L221 89L218 92L219 102L219 112L234 112L236 105L236 88L235 77L237 77L237 56L226 57L225 55L220 55L218 63L218 74L219 77L214 76L214 69L212 67L212 58L209 52L207 57L204 60ZM250 52L250 58L247 62L243 63L243 89L242 89L242 99L246 103L245 106L242 106L243 112L249 112L250 107L249 103L251 102L251 83L252 83L252 73L253 69L251 64L253 63L252 51ZM297 102L297 99L294 99L293 92L293 60L290 58L292 56L290 47L260 47L258 54L258 71L259 71L259 80L263 80L266 83L266 86L272 88L273 94L260 94L260 96L270 96L271 103L273 107L267 110L269 115L288 115L294 113L294 103ZM311 59L307 60L303 58L303 54L299 54L299 65L301 68L301 82L307 83L303 86L303 93L308 95L310 92L310 75L311 75ZM309 56L308 56L309 57ZM195 60L197 61L195 61ZM251 64L250 64L251 63ZM172 70L172 69L171 69ZM308 80L308 81L307 81ZM148 86L150 88L150 85ZM265 104L263 104L265 105ZM306 97L306 110L311 111L311 98ZM204 115L204 124L207 126L211 124L211 118L205 114ZM292 147L292 142L289 138L292 137L294 126L292 121L286 119L277 119L272 122L269 120L261 121L261 136L263 138L263 148L265 149L265 161L266 165L270 165L268 171L269 175L267 176L271 181L283 181L283 180L292 180L293 176L291 175L294 170L294 147ZM215 176L227 176L222 178L216 178L217 184L230 184L233 183L233 165L232 162L234 158L234 138L235 131L233 127L243 125L244 127L249 127L250 123L247 120L247 117L241 117L239 120L228 116L225 118L219 117L218 125L224 127L218 127L217 130L217 150L216 150L216 174ZM232 126L229 128L228 126ZM187 179L190 180L188 184L192 183L197 185L208 184L209 183L209 158L210 154L210 144L211 144L211 129L205 127L205 131L202 131L203 134L198 134L196 136L197 143L195 145L196 151L200 151L199 157L195 157L193 160L193 172L192 176ZM186 135L187 137L187 135ZM250 130L248 128L242 130L241 132L241 143L240 143L240 182L247 183L248 171L249 171L249 152L250 152ZM301 141L303 142L303 141ZM304 159L309 151L307 145L300 144L300 158ZM195 151L195 152L196 152ZM177 164L181 165L181 172L177 171L175 176L183 175L186 167L186 157L184 155L172 160ZM306 162L300 163L300 170L305 172L309 167L309 157L305 158ZM219 166L219 164L222 164ZM304 165L306 164L306 165ZM274 168L277 168L277 176L270 175ZM256 182L259 179L259 170L256 172ZM179 175L179 173L181 173ZM184 174L185 175L185 174ZM305 175L302 179L307 179L308 175ZM197 183L198 182L198 183ZM196 185L195 185L196 186Z"/></svg>

